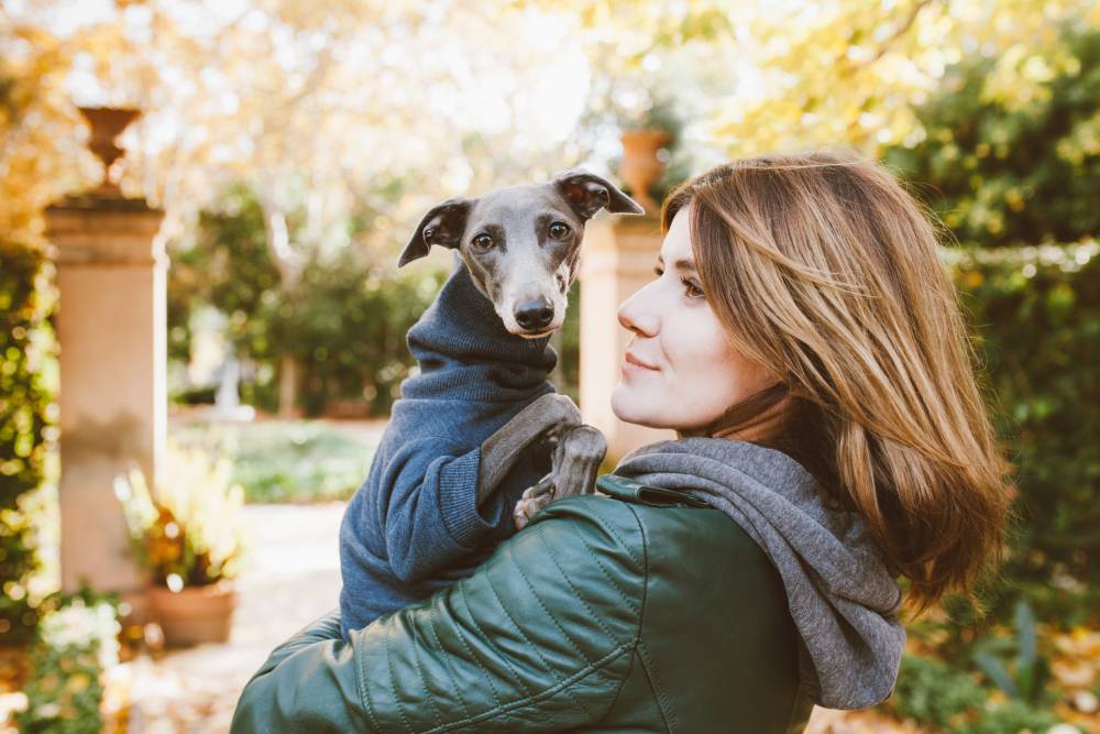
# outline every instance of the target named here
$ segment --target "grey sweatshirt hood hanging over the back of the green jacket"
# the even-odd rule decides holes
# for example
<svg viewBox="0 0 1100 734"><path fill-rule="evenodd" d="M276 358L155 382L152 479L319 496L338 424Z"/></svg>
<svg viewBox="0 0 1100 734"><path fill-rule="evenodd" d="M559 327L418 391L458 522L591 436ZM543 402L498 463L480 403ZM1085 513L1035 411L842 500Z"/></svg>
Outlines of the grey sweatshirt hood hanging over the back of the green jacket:
<svg viewBox="0 0 1100 734"><path fill-rule="evenodd" d="M862 516L826 510L798 461L747 441L682 438L631 451L613 473L703 500L760 545L787 589L814 703L862 709L890 697L905 647L901 591Z"/></svg>

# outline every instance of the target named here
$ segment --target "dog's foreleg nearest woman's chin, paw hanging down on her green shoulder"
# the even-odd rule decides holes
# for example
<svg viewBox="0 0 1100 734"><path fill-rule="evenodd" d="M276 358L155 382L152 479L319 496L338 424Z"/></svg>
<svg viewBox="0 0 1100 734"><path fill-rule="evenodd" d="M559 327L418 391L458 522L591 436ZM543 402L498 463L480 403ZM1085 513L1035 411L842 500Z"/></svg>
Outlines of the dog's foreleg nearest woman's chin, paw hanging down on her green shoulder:
<svg viewBox="0 0 1100 734"><path fill-rule="evenodd" d="M596 483L596 472L607 453L607 441L598 428L564 428L558 439L553 469L528 487L513 512L513 522L521 529L540 510L554 500L585 494Z"/></svg>

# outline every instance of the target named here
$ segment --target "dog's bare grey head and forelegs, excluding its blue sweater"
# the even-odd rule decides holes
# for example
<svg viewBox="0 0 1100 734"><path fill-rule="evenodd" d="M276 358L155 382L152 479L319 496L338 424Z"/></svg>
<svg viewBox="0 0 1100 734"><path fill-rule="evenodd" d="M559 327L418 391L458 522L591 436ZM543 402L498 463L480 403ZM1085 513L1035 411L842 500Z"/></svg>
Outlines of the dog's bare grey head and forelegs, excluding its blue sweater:
<svg viewBox="0 0 1100 734"><path fill-rule="evenodd" d="M397 266L425 256L433 244L454 250L510 333L546 337L564 322L584 226L604 208L645 213L613 184L584 171L473 199L448 199L424 216ZM479 507L536 440L553 446L551 471L517 503L513 513L517 528L552 501L591 491L607 451L603 434L583 424L569 396L543 395L482 442Z"/></svg>

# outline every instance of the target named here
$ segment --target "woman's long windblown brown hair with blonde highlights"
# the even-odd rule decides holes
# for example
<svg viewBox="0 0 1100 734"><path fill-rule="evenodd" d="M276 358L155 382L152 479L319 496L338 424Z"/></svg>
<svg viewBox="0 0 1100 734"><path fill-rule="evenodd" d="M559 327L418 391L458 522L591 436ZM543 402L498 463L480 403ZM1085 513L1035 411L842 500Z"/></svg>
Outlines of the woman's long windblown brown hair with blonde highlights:
<svg viewBox="0 0 1100 734"><path fill-rule="evenodd" d="M782 406L757 442L859 512L920 615L1002 560L1012 464L987 413L968 325L937 258L941 228L894 177L846 152L721 165L676 187L696 269L734 344L779 382L723 432ZM707 427L714 435L718 424Z"/></svg>

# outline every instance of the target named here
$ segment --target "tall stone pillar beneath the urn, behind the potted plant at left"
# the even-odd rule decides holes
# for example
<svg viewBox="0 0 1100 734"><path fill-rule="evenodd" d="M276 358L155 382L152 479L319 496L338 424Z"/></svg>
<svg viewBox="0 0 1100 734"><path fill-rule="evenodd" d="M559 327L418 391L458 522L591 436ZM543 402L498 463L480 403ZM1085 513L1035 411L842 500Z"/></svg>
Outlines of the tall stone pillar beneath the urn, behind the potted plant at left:
<svg viewBox="0 0 1100 734"><path fill-rule="evenodd" d="M167 425L164 212L96 193L46 210L61 347L61 570L141 609L114 476L156 475Z"/></svg>

